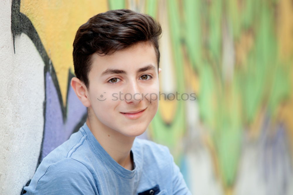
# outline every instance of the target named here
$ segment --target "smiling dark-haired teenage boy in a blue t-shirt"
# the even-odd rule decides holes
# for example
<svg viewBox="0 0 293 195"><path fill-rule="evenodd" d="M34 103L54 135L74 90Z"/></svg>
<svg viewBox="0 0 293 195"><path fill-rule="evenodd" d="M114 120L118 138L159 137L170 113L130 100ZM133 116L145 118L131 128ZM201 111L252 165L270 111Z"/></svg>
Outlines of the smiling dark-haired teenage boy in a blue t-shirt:
<svg viewBox="0 0 293 195"><path fill-rule="evenodd" d="M135 138L158 109L160 35L151 16L127 9L81 25L71 86L88 118L42 160L27 194L191 194L168 148Z"/></svg>

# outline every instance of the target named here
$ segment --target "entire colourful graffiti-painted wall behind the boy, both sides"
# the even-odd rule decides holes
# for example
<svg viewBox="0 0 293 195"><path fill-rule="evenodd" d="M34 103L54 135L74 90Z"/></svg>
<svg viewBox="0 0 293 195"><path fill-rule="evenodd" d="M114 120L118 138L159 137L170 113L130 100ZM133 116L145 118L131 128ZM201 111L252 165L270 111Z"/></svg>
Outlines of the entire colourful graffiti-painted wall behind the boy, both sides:
<svg viewBox="0 0 293 195"><path fill-rule="evenodd" d="M161 92L196 93L162 97L142 135L170 148L192 193L293 194L290 0L1 1L1 194L21 194L84 123L69 85L74 35L119 8L161 23Z"/></svg>

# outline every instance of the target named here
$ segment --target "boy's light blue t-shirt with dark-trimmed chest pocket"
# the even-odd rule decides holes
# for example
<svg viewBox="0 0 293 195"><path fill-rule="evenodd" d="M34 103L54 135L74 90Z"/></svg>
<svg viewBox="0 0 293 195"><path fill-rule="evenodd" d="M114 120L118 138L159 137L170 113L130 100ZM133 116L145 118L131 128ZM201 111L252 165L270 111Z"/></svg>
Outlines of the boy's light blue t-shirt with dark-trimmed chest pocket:
<svg viewBox="0 0 293 195"><path fill-rule="evenodd" d="M40 163L26 194L191 194L166 146L134 139L134 170L119 165L84 123Z"/></svg>

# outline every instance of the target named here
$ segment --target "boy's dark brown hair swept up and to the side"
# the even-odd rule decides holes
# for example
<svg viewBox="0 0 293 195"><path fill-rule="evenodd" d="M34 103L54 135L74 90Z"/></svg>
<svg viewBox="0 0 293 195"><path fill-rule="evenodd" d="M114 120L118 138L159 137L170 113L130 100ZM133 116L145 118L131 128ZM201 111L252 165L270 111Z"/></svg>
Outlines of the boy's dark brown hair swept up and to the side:
<svg viewBox="0 0 293 195"><path fill-rule="evenodd" d="M99 13L81 25L73 42L74 73L86 87L91 70L91 55L111 55L139 42L149 42L155 48L158 68L161 25L151 16L129 9Z"/></svg>

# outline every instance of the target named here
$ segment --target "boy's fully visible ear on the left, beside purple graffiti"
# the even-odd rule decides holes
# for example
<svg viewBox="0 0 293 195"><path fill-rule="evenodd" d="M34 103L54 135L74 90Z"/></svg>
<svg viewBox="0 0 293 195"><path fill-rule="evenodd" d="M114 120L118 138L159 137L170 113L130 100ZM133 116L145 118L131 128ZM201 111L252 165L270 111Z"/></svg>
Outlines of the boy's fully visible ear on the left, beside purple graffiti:
<svg viewBox="0 0 293 195"><path fill-rule="evenodd" d="M88 98L87 88L78 78L73 77L70 83L76 96L85 107L91 106L91 101Z"/></svg>

